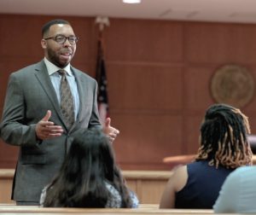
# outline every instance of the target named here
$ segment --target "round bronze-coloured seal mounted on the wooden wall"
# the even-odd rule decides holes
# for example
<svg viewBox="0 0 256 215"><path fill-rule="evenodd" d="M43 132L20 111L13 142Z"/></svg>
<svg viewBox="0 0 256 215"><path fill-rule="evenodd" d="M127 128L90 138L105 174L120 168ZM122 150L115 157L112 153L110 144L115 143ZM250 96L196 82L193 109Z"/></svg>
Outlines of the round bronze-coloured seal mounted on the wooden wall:
<svg viewBox="0 0 256 215"><path fill-rule="evenodd" d="M225 65L213 74L211 92L216 102L242 108L253 98L253 76L245 67Z"/></svg>

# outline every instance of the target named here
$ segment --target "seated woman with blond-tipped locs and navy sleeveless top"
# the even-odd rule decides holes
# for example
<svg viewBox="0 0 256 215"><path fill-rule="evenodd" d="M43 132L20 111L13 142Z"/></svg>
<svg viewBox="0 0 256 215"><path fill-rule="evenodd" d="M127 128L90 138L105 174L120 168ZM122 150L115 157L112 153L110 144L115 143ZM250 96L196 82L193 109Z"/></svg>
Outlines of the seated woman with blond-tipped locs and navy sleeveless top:
<svg viewBox="0 0 256 215"><path fill-rule="evenodd" d="M174 170L160 208L212 209L230 172L252 164L249 133L247 117L239 109L225 104L208 108L195 161Z"/></svg>

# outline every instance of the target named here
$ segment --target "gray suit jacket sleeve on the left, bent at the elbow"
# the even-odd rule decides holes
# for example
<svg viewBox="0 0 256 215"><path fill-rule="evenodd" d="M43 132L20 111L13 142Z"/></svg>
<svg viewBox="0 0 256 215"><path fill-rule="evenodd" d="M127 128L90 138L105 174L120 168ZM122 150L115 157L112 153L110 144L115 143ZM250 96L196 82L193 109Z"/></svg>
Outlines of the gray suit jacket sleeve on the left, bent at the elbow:
<svg viewBox="0 0 256 215"><path fill-rule="evenodd" d="M38 142L35 133L36 124L26 125L25 113L26 102L22 83L15 73L12 73L9 77L0 125L1 137L4 142L16 146L32 145Z"/></svg>

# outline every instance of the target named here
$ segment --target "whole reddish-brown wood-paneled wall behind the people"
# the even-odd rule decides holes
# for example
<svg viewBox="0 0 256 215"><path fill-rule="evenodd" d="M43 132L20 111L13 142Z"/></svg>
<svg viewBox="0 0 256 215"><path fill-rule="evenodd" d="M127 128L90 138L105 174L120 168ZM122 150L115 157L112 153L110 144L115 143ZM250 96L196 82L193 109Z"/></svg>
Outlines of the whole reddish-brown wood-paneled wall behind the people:
<svg viewBox="0 0 256 215"><path fill-rule="evenodd" d="M40 61L41 26L69 20L79 36L73 66L95 77L95 17L0 15L0 114L9 74ZM214 102L210 83L225 64L256 77L256 25L111 19L104 31L113 143L123 169L169 170L166 156L195 154L199 126ZM256 133L256 100L241 110ZM0 168L13 168L17 148L0 142Z"/></svg>

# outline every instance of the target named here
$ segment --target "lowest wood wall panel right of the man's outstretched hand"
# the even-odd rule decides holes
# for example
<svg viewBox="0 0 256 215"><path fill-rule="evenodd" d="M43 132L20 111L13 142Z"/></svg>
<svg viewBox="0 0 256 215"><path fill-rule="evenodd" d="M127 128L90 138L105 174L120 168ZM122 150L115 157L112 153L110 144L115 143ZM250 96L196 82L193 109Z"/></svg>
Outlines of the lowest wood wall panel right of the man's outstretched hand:
<svg viewBox="0 0 256 215"><path fill-rule="evenodd" d="M182 118L167 114L116 114L114 120L121 131L114 142L117 160L123 167L137 166L147 170L169 170L163 164L166 156L182 154Z"/></svg>

